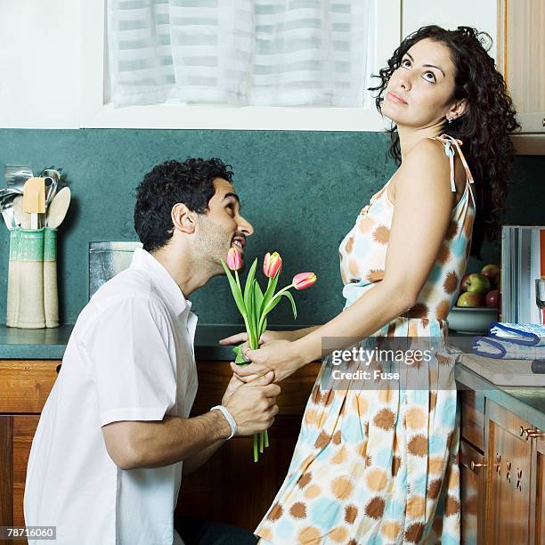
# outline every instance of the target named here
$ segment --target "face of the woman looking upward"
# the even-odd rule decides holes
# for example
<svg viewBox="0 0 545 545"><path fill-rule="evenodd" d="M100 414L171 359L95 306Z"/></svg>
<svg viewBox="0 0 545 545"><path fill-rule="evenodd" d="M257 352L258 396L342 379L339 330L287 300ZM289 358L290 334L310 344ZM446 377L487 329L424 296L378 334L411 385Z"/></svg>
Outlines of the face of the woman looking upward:
<svg viewBox="0 0 545 545"><path fill-rule="evenodd" d="M446 45L429 38L403 55L386 86L382 113L397 126L441 125L451 110L454 65Z"/></svg>

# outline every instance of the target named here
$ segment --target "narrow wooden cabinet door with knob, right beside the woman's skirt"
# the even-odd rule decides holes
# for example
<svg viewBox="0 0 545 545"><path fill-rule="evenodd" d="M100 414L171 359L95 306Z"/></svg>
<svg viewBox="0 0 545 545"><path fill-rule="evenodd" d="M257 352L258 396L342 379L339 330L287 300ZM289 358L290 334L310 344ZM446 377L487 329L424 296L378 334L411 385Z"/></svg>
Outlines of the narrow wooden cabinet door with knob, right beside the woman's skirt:
<svg viewBox="0 0 545 545"><path fill-rule="evenodd" d="M460 442L461 538L465 545L484 543L486 468L484 456L467 441Z"/></svg>

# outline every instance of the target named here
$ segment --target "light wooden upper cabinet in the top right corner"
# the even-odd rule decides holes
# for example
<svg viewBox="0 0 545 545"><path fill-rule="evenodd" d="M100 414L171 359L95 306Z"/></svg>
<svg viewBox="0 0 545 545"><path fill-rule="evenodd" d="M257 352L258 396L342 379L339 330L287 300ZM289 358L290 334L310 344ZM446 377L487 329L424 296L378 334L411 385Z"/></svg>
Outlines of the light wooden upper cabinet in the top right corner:
<svg viewBox="0 0 545 545"><path fill-rule="evenodd" d="M519 153L545 154L545 2L498 0L498 68L503 73L522 134Z"/></svg>

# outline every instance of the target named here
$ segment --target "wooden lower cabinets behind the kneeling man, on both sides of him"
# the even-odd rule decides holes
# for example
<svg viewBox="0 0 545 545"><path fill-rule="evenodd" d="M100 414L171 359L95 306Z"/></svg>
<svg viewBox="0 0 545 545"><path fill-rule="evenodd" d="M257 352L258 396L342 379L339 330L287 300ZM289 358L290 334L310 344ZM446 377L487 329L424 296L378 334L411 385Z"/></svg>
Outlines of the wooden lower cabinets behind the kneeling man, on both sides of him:
<svg viewBox="0 0 545 545"><path fill-rule="evenodd" d="M60 364L0 360L0 525L24 525L28 453ZM307 365L282 383L280 411L262 459L254 463L251 438L235 437L196 474L183 478L176 514L255 529L286 476L319 369L320 363ZM220 403L232 375L228 362L198 362L198 371L192 415Z"/></svg>

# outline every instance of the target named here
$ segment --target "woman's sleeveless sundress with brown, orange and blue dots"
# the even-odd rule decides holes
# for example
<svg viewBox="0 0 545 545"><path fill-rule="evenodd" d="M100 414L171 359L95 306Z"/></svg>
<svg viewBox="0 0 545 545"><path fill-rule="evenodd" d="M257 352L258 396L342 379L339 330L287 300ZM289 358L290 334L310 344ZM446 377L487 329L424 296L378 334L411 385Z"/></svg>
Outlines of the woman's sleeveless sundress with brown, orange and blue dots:
<svg viewBox="0 0 545 545"><path fill-rule="evenodd" d="M451 191L456 191L455 150L466 169L466 189L452 209L417 304L378 329L373 339L434 338L448 344L446 317L466 270L476 204L462 142L447 134L436 140L450 158ZM394 212L388 183L362 208L341 242L345 308L384 277ZM415 389L389 381L370 388L341 386L332 378L330 356L324 360L288 475L256 528L260 543L460 543L456 357L442 346L433 361L416 366L426 387Z"/></svg>

